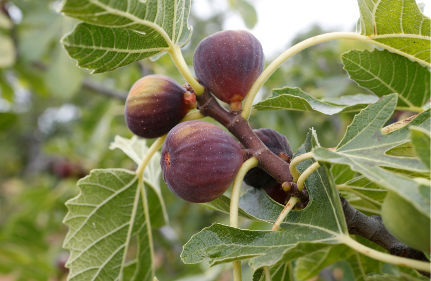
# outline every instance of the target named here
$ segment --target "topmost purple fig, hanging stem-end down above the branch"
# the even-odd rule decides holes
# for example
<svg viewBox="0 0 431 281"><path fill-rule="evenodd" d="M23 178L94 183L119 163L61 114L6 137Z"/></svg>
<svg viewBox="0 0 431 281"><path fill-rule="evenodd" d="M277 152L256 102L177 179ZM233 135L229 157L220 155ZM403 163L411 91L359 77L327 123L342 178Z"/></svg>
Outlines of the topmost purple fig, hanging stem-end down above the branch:
<svg viewBox="0 0 431 281"><path fill-rule="evenodd" d="M245 30L217 32L202 40L193 55L197 79L236 111L264 64L261 43Z"/></svg>

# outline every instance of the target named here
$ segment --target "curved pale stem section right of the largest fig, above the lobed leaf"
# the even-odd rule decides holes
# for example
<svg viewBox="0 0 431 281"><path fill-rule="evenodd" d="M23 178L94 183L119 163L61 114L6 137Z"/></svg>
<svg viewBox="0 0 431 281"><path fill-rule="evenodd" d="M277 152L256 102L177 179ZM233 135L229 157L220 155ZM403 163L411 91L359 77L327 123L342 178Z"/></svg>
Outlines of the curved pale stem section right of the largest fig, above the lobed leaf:
<svg viewBox="0 0 431 281"><path fill-rule="evenodd" d="M258 164L258 159L256 159L256 157L251 157L242 164L237 176L235 177L234 184L232 185L230 213L231 226L233 227L238 227L238 203L242 180L244 179L244 176L248 172L248 170L258 166Z"/></svg>

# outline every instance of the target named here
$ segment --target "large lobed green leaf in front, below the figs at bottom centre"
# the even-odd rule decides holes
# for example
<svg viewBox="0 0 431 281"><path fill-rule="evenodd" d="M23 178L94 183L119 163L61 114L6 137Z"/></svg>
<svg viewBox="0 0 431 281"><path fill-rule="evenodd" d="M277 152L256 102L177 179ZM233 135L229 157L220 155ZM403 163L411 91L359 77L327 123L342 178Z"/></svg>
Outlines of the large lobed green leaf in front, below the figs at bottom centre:
<svg viewBox="0 0 431 281"><path fill-rule="evenodd" d="M318 145L315 131L308 134L298 154ZM304 171L313 161L298 164ZM253 270L263 266L285 264L300 256L339 244L347 235L347 226L331 173L320 167L306 180L310 203L299 211L291 211L276 231L244 230L213 224L194 235L184 245L184 263L198 263L210 258L210 266L251 259ZM274 222L283 206L270 200L264 191L252 189L241 197L241 208L252 216Z"/></svg>

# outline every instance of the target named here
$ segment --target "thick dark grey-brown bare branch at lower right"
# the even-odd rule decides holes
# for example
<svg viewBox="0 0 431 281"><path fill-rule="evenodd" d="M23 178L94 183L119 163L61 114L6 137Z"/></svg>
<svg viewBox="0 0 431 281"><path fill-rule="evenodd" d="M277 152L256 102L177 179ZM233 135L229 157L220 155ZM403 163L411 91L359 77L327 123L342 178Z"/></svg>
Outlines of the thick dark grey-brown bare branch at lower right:
<svg viewBox="0 0 431 281"><path fill-rule="evenodd" d="M388 229L383 224L382 218L379 216L371 216L362 214L359 210L353 208L344 197L341 197L341 205L343 206L344 217L347 222L347 229L351 235L358 235L369 241L381 246L390 254L409 259L428 262L425 254L415 250L398 239L393 237ZM418 272L426 277L430 277L429 272Z"/></svg>

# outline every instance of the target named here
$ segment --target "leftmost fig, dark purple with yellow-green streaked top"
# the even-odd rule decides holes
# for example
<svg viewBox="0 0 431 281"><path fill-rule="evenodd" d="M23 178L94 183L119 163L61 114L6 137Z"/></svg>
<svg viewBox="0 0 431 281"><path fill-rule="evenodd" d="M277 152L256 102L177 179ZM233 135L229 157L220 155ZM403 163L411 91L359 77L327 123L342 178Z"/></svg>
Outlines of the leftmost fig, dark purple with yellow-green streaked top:
<svg viewBox="0 0 431 281"><path fill-rule="evenodd" d="M138 136L162 136L195 107L193 98L194 95L165 75L145 76L130 89L125 102L125 122Z"/></svg>

